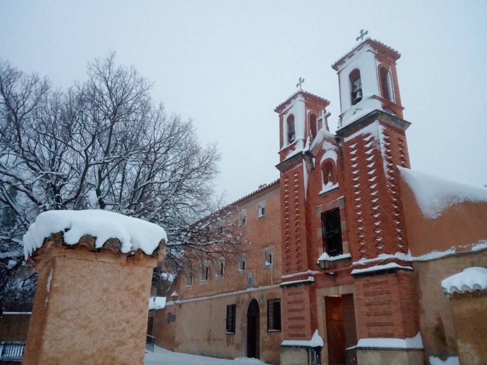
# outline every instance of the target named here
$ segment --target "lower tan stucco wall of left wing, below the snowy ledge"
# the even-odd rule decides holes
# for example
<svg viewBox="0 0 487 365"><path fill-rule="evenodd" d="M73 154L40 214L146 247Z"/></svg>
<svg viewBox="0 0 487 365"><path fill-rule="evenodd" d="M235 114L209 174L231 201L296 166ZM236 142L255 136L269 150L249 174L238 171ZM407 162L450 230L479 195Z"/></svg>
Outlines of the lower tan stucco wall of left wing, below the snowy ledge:
<svg viewBox="0 0 487 365"><path fill-rule="evenodd" d="M182 304L151 311L156 344L175 351L222 358L245 356L247 310L252 299L260 309L260 358L279 364L282 332L267 331L267 300L281 298L281 288L255 290ZM235 334L225 333L227 305L236 304ZM167 324L167 313L176 321ZM284 325L284 323L283 323Z"/></svg>

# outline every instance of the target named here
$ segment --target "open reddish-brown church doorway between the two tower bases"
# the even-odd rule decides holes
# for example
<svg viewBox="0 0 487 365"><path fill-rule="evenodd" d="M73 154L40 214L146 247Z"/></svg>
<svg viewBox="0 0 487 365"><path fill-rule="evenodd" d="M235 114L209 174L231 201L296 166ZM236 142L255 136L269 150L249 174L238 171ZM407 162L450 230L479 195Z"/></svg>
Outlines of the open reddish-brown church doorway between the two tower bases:
<svg viewBox="0 0 487 365"><path fill-rule="evenodd" d="M352 365L354 353L345 349L357 344L354 296L352 294L325 297L326 337L329 365Z"/></svg>

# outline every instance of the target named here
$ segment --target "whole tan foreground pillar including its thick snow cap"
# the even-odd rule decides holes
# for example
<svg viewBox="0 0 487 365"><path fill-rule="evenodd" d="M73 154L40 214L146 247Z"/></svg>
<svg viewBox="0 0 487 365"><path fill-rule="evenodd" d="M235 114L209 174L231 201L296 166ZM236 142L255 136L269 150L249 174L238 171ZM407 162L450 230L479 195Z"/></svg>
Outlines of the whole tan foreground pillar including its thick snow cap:
<svg viewBox="0 0 487 365"><path fill-rule="evenodd" d="M39 273L23 364L143 364L152 269L166 234L101 211L48 211L24 236Z"/></svg>

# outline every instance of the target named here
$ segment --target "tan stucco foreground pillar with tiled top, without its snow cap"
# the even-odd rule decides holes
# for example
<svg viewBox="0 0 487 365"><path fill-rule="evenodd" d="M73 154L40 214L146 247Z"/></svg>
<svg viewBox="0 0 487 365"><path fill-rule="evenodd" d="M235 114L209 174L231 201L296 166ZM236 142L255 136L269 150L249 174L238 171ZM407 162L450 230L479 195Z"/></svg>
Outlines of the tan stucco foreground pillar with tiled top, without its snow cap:
<svg viewBox="0 0 487 365"><path fill-rule="evenodd" d="M39 281L24 365L143 364L152 269L162 250L121 253L116 239L98 249L94 241L65 245L51 235L29 259Z"/></svg>

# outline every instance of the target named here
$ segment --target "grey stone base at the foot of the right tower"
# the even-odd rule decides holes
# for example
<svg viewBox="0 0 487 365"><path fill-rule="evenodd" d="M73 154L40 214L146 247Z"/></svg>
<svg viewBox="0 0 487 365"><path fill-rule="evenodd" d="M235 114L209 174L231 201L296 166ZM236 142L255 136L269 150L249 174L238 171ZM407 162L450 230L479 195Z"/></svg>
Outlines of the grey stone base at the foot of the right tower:
<svg viewBox="0 0 487 365"><path fill-rule="evenodd" d="M357 348L357 365L424 365L423 349Z"/></svg>

